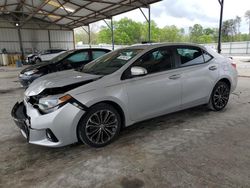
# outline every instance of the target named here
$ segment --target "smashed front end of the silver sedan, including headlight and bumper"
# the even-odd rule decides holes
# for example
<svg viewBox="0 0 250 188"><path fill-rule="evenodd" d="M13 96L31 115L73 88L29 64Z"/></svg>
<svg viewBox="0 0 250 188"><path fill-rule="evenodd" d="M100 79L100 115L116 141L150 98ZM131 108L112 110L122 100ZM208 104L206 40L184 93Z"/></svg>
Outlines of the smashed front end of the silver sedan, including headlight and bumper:
<svg viewBox="0 0 250 188"><path fill-rule="evenodd" d="M49 147L77 142L75 130L88 108L67 92L99 78L77 79L78 82L72 80L73 83L67 84L54 81L53 87L44 80L32 83L25 91L24 100L17 102L11 112L22 135L29 143Z"/></svg>

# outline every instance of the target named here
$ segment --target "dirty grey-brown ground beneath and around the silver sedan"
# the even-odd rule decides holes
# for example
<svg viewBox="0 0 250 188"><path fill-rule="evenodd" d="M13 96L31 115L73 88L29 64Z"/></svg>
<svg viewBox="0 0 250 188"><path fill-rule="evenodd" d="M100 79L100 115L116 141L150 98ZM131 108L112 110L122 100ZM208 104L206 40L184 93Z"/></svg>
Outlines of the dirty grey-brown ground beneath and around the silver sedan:
<svg viewBox="0 0 250 188"><path fill-rule="evenodd" d="M0 187L250 187L250 71L222 112L145 121L100 149L26 143L10 117L19 71L0 67Z"/></svg>

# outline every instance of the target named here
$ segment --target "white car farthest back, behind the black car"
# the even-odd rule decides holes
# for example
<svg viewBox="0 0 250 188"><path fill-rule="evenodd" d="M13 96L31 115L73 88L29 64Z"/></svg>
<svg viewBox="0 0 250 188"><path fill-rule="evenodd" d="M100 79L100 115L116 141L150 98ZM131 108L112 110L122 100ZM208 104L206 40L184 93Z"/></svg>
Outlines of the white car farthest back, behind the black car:
<svg viewBox="0 0 250 188"><path fill-rule="evenodd" d="M49 49L44 50L40 53L29 54L26 57L26 63L28 64L35 64L40 63L41 61L50 61L54 57L60 55L61 53L65 52L66 50L63 49Z"/></svg>

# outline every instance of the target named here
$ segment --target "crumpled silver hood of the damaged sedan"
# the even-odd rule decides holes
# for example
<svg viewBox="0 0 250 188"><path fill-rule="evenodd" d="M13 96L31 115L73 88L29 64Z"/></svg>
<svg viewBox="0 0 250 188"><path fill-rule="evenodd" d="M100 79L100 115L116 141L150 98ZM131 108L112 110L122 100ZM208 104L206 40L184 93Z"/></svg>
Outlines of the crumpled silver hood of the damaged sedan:
<svg viewBox="0 0 250 188"><path fill-rule="evenodd" d="M38 95L45 89L61 88L76 83L89 83L100 78L100 75L85 74L75 70L60 71L47 74L36 79L25 91L25 96Z"/></svg>

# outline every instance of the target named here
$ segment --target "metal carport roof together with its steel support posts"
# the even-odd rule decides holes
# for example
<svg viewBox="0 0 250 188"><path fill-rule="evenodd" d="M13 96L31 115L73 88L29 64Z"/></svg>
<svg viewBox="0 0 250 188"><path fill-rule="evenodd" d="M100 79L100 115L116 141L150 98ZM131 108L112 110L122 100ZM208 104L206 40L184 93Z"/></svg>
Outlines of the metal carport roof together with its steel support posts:
<svg viewBox="0 0 250 188"><path fill-rule="evenodd" d="M110 19L109 28L114 48L113 16L137 8L148 8L148 16L142 10L141 12L149 25L150 41L150 4L158 1L160 0L1 0L0 28L15 28L18 31L20 51L24 54L22 29L47 30L51 46L51 30L73 31L77 27L89 28L91 23Z"/></svg>

